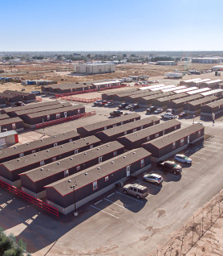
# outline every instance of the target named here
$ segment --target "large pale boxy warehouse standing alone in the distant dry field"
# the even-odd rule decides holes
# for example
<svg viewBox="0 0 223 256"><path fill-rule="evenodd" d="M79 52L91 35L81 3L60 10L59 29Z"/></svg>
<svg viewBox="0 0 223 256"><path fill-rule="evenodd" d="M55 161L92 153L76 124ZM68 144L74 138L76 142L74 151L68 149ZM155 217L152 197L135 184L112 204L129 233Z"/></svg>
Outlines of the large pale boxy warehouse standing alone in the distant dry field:
<svg viewBox="0 0 223 256"><path fill-rule="evenodd" d="M75 64L74 67L76 73L99 74L116 72L116 64L110 63Z"/></svg>

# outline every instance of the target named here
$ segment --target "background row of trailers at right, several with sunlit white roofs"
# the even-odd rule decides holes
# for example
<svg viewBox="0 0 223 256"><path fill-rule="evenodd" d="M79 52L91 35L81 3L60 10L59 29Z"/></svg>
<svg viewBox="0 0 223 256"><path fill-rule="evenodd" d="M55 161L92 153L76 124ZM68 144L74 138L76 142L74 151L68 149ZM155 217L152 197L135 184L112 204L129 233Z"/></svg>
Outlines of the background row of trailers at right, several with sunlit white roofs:
<svg viewBox="0 0 223 256"><path fill-rule="evenodd" d="M161 109L173 109L176 114L184 110L187 114L199 114L201 106L217 101L222 97L222 89L199 89L185 85L152 85L140 89L103 93L103 100L114 104L139 104L142 108L153 105Z"/></svg>

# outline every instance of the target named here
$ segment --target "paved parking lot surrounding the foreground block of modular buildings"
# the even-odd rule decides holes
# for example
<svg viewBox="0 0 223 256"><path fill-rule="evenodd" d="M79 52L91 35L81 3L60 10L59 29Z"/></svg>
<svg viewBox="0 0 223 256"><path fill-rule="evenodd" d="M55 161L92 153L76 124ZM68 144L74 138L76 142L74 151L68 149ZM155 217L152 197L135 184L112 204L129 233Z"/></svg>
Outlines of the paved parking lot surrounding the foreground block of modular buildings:
<svg viewBox="0 0 223 256"><path fill-rule="evenodd" d="M109 108L86 105L86 111L92 109L96 111L94 117L47 127L46 134L105 120L116 105ZM148 117L145 109L137 109L136 113ZM191 125L193 118L179 121L184 127ZM182 152L193 159L193 164L180 163L181 175L160 171L152 163L145 172L162 175L161 185L144 182L144 174L128 180L127 184L148 188L145 199L138 200L124 194L123 188L114 188L83 205L79 217L69 213L57 220L0 188L0 226L21 237L33 255L136 255L136 251L138 255L149 255L222 188L223 124L221 119L214 126L212 122L202 122L208 140Z"/></svg>

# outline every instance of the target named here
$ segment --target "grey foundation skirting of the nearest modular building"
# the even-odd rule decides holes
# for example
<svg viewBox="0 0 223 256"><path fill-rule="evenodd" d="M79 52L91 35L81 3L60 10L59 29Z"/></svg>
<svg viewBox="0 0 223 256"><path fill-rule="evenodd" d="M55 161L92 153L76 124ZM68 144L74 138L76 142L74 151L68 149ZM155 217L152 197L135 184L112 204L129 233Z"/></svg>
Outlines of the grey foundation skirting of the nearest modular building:
<svg viewBox="0 0 223 256"><path fill-rule="evenodd" d="M139 175L140 173L142 173L143 171L148 170L151 167L151 164L141 168L138 171L135 171L132 175L136 176ZM118 180L116 181L116 183L118 182L125 182L127 180L127 178L125 177L122 180ZM87 196L86 198L84 198L83 200L79 200L78 202L76 202L76 208L79 208L80 206L82 206L83 204L87 204L89 201L95 199L98 196L103 195L105 192L108 192L109 190L111 190L112 188L116 188L116 183L113 183L109 186L107 186L106 188L100 189L98 192L95 192L94 194L92 194L91 196ZM55 204L53 202L51 202L51 200L47 200L47 204L50 204L51 206L55 207L56 209L59 210L60 213L63 214L68 214L71 213L72 211L75 210L75 204L71 204L70 206L68 206L67 208L63 208L61 206L59 206L58 204Z"/></svg>

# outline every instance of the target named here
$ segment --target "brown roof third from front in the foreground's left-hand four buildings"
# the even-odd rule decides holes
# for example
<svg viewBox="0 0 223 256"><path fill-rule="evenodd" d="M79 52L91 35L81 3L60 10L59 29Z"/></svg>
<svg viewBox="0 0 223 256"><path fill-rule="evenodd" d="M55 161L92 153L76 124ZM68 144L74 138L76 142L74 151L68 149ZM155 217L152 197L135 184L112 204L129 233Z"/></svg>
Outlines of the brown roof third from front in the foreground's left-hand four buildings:
<svg viewBox="0 0 223 256"><path fill-rule="evenodd" d="M75 151L75 149L79 149L79 147L84 147L88 145L91 145L92 143L100 142L98 138L95 136L90 136L87 138L80 138L79 140L76 140L75 142L68 142L66 144L57 146L57 147L51 147L44 151L39 151L38 153L33 153L30 155L22 156L22 158L13 159L8 162L2 163L9 171L15 171L17 169L20 169L22 167L26 167L33 163L38 163L40 161L43 161L45 159L51 159L55 157L56 155L62 155L69 151ZM60 162L62 161L59 160Z"/></svg>

